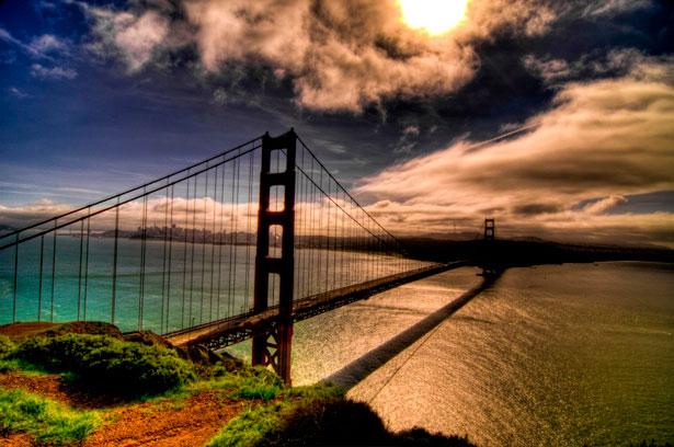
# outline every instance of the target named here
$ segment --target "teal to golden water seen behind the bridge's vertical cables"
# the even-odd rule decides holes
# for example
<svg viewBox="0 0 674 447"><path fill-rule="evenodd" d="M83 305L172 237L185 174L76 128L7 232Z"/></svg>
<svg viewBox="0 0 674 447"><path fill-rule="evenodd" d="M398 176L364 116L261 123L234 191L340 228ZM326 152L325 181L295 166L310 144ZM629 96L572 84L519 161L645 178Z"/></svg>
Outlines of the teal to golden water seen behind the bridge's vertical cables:
<svg viewBox="0 0 674 447"><path fill-rule="evenodd" d="M59 234L0 251L0 324L12 321L106 321L157 333L244 313L253 307L254 245L114 240ZM272 248L271 254L278 255ZM56 255L55 255L56 253ZM145 253L145 254L144 254ZM145 270L141 257L145 255ZM19 268L14 287L14 256ZM373 262L376 257L377 262ZM295 296L306 297L427 263L384 254L296 249ZM42 275L41 275L42 272ZM142 276L141 276L142 274ZM270 302L278 282L270 280ZM141 277L144 278L141 280ZM115 299L113 301L113 283ZM114 313L113 313L114 311Z"/></svg>

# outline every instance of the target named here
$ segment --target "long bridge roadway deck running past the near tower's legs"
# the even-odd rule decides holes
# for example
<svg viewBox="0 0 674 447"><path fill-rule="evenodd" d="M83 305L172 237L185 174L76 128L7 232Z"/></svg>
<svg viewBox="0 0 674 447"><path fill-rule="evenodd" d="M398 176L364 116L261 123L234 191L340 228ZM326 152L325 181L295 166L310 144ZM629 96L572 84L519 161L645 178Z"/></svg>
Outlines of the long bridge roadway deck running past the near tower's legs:
<svg viewBox="0 0 674 447"><path fill-rule="evenodd" d="M466 265L468 265L466 261L434 264L301 298L293 302L293 318L294 321L301 321L351 302L368 298L375 294L389 290L393 287ZM219 349L251 339L255 332L254 330L264 328L265 325L272 326L277 316L278 307L274 306L263 312L241 313L222 320L174 331L164 336L171 343L179 346L201 344L212 349Z"/></svg>

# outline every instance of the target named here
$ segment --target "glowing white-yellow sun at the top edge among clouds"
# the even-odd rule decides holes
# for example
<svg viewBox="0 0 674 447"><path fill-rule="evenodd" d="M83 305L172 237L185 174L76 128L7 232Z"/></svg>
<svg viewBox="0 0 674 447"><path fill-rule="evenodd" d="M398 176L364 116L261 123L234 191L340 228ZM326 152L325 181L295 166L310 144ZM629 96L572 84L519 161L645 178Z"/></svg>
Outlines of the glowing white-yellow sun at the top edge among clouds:
<svg viewBox="0 0 674 447"><path fill-rule="evenodd" d="M402 21L431 35L447 33L466 18L469 0L398 0Z"/></svg>

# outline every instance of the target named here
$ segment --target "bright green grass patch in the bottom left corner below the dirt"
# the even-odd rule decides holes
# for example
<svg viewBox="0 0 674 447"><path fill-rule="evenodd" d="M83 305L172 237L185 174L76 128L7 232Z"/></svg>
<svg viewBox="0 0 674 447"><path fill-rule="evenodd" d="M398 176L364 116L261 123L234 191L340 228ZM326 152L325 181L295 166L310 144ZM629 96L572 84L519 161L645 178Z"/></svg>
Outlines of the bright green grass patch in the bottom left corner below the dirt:
<svg viewBox="0 0 674 447"><path fill-rule="evenodd" d="M37 445L77 445L100 424L95 412L79 412L23 390L0 388L0 435L28 433Z"/></svg>

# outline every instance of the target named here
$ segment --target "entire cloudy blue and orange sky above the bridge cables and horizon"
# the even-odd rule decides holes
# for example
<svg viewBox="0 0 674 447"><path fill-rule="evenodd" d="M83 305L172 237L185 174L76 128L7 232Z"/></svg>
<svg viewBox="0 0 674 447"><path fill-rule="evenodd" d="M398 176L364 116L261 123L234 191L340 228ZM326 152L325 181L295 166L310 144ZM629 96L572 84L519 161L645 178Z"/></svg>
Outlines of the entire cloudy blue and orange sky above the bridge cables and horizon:
<svg viewBox="0 0 674 447"><path fill-rule="evenodd" d="M295 127L397 234L674 247L672 1L0 0L0 225Z"/></svg>

